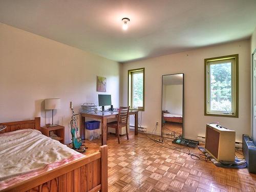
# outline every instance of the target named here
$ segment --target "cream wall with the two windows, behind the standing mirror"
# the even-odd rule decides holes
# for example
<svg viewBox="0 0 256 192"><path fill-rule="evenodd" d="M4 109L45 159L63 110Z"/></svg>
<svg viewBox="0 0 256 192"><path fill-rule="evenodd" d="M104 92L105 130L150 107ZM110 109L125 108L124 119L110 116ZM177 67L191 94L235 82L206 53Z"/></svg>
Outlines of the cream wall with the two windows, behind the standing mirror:
<svg viewBox="0 0 256 192"><path fill-rule="evenodd" d="M204 59L239 54L239 118L204 116ZM205 124L219 121L242 134L250 135L250 40L236 41L203 49L170 54L123 64L122 103L127 104L127 70L145 67L145 111L142 126L151 132L161 122L161 77L184 73L184 136L196 139L205 135ZM160 133L160 126L157 129Z"/></svg>

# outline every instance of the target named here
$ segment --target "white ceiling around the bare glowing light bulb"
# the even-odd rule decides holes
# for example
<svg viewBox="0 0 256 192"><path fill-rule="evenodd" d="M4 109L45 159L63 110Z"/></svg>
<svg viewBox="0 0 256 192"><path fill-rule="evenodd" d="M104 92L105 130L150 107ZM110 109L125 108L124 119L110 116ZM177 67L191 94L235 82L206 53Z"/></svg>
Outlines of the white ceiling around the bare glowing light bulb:
<svg viewBox="0 0 256 192"><path fill-rule="evenodd" d="M249 38L255 10L255 0L0 0L0 22L127 62Z"/></svg>

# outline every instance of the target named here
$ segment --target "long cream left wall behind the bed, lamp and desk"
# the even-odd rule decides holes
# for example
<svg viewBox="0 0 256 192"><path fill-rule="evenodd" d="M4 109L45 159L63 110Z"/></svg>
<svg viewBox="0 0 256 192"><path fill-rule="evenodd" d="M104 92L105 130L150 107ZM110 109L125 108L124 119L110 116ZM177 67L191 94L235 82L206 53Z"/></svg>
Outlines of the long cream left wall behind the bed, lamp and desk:
<svg viewBox="0 0 256 192"><path fill-rule="evenodd" d="M51 122L44 99L61 98L55 123L65 126L66 142L73 101L98 103L96 76L107 78L107 92L119 106L119 63L0 23L0 122L41 117Z"/></svg>

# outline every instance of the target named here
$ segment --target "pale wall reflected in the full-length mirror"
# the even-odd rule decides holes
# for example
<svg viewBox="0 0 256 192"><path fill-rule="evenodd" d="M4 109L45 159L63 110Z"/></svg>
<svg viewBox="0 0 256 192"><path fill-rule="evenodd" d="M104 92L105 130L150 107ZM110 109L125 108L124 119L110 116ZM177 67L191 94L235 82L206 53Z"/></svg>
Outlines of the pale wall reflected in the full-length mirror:
<svg viewBox="0 0 256 192"><path fill-rule="evenodd" d="M165 105L163 110L176 115L182 115L182 85L167 86L165 90Z"/></svg>

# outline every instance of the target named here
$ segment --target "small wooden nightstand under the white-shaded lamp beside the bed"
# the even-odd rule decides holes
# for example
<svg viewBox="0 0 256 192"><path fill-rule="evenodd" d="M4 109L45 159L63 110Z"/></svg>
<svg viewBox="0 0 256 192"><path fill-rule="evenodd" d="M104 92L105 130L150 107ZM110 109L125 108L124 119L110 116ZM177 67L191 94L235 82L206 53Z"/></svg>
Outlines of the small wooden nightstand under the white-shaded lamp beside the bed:
<svg viewBox="0 0 256 192"><path fill-rule="evenodd" d="M62 144L64 144L64 141L65 141L64 126L60 126L60 125L50 126L50 127L42 126L40 131L42 132L42 134L44 134L47 137L50 137L50 132L53 132L53 134L57 135L57 138L52 138L52 139L55 139L61 142Z"/></svg>

